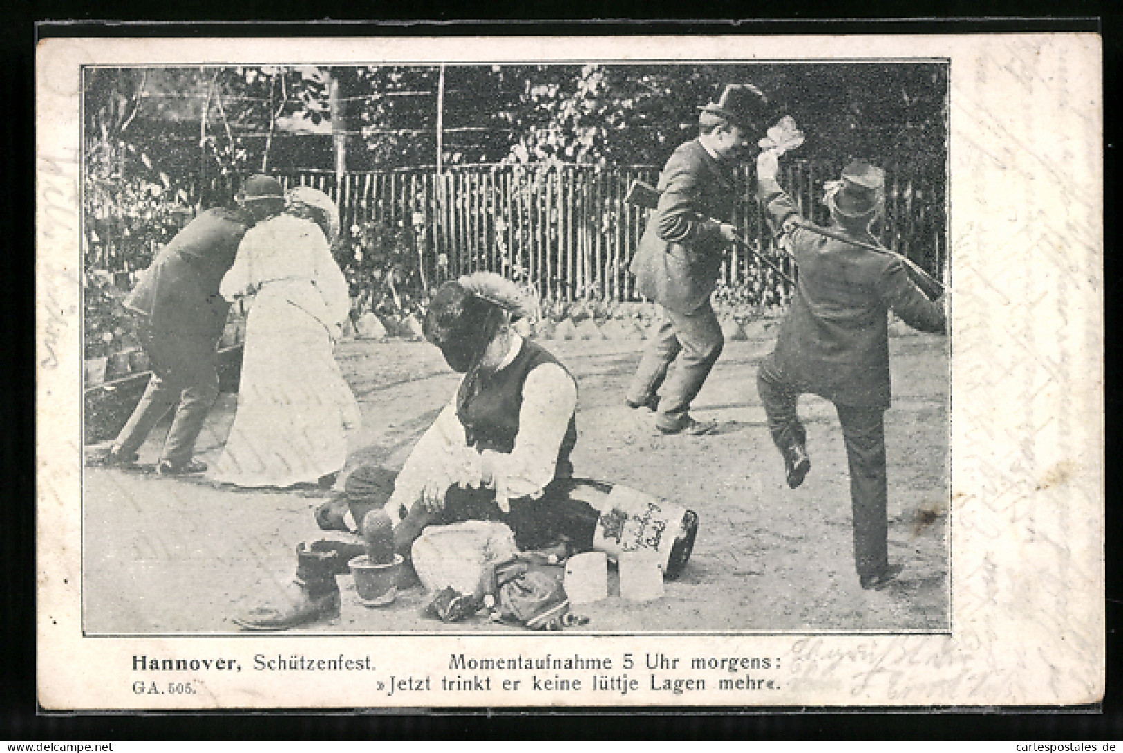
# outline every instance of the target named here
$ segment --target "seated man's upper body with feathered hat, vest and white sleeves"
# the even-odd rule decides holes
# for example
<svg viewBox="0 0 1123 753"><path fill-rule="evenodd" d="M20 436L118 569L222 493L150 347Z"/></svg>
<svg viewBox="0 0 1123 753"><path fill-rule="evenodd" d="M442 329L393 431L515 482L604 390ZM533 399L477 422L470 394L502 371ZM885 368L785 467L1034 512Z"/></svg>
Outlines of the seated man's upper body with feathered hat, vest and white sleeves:
<svg viewBox="0 0 1123 753"><path fill-rule="evenodd" d="M384 507L403 556L435 523L503 520L521 548L564 533L548 511L556 481L573 475L577 383L509 326L523 307L514 283L489 272L446 283L429 306L426 338L464 379Z"/></svg>

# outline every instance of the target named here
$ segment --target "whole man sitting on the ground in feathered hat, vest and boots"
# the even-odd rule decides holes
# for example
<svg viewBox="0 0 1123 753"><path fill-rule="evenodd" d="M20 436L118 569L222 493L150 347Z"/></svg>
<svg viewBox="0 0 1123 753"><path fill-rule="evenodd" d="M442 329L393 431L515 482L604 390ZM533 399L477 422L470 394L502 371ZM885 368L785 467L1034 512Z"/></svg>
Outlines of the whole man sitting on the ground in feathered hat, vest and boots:
<svg viewBox="0 0 1123 753"><path fill-rule="evenodd" d="M345 482L346 500L317 510L321 528L359 528L368 546L392 530L393 547L407 561L427 526L464 520L505 523L520 550L566 542L569 551L587 551L603 510L610 515L601 537L609 528L617 541L624 536L624 526L611 525L620 511L603 503L612 486L572 478L577 384L557 359L510 327L526 308L518 287L491 272L437 290L424 335L464 378L401 472L356 469ZM667 526L658 511L655 507L654 523L661 532ZM682 530L670 528L675 533L663 537L665 544L651 545L667 554L670 578L690 557L697 529L693 512L677 515ZM633 536L645 534L643 520L629 528ZM337 616L335 575L362 553L336 542L301 544L291 602L235 622L248 629L283 629Z"/></svg>

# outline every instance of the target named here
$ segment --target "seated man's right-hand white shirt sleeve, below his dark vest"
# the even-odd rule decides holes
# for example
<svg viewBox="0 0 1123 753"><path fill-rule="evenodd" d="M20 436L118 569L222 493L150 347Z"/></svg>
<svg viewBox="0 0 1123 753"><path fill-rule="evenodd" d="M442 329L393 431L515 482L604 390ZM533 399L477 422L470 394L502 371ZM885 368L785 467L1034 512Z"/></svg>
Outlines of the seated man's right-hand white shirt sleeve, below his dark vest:
<svg viewBox="0 0 1123 753"><path fill-rule="evenodd" d="M527 374L514 448L510 454L482 453L492 469L495 501L504 511L509 499L541 497L554 480L558 450L576 407L577 385L562 366L544 363Z"/></svg>

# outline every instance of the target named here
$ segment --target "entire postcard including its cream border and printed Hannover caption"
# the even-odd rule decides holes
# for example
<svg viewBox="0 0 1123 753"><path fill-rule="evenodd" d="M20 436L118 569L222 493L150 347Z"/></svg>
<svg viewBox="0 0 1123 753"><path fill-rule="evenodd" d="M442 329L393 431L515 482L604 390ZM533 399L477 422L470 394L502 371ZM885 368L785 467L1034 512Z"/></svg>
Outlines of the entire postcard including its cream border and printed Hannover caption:
<svg viewBox="0 0 1123 753"><path fill-rule="evenodd" d="M39 545L67 563L66 641L115 646L131 701L268 706L289 691L170 693L316 669L367 670L363 706L1028 702L1024 659L976 670L1004 661L1002 610L1042 598L1084 620L1034 623L1087 664L1051 692L1094 692L1102 388L1076 366L1099 359L1098 164L1070 129L1079 232L999 234L990 202L1019 227L1053 211L1019 206L1039 179L1004 149L1043 147L1003 118L1062 127L1004 109L1007 84L976 97L1052 79L970 40L209 42L43 57L77 76L75 140L40 125L77 191L40 279L73 302L44 352L80 383L39 509L66 523ZM1051 293L1007 263L1074 237L1034 267ZM1030 357L1053 345L992 311L1087 339ZM1034 411L1057 384L1067 409ZM1080 575L1008 580L1034 546Z"/></svg>

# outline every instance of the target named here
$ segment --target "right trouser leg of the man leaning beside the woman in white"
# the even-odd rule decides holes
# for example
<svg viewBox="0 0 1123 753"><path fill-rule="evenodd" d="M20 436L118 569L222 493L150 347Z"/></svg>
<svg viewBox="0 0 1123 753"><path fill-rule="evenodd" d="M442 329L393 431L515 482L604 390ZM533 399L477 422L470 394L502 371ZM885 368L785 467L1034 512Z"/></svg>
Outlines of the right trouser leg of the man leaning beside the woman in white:
<svg viewBox="0 0 1123 753"><path fill-rule="evenodd" d="M214 343L208 337L172 336L154 348L163 351L170 381L180 385L180 407L164 441L161 461L182 468L195 451L195 439L218 397Z"/></svg>

